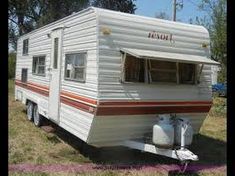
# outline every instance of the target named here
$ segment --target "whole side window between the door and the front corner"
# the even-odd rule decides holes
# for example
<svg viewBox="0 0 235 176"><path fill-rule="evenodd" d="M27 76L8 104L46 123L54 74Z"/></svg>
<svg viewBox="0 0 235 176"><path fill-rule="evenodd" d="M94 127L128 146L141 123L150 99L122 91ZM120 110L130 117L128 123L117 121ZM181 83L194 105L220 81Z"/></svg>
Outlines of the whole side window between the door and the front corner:
<svg viewBox="0 0 235 176"><path fill-rule="evenodd" d="M66 54L65 79L85 81L86 53Z"/></svg>

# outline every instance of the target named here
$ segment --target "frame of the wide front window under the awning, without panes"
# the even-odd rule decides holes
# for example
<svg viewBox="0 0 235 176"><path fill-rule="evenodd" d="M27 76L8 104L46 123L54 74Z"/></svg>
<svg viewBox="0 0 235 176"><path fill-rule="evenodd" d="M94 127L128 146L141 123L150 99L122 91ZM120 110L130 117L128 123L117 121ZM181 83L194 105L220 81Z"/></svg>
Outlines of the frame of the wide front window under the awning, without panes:
<svg viewBox="0 0 235 176"><path fill-rule="evenodd" d="M126 64L126 60L127 60L127 56L128 54L123 53L122 55L122 76L120 79L120 82L122 83L128 83L128 84L172 84L172 85L198 85L200 82L198 81L200 78L200 73L199 73L199 65L200 64L196 64L196 63L186 63L186 62L173 62L176 64L176 69L175 69L175 76L176 76L176 81L175 82L164 82L164 81L152 81L151 79L151 60L154 59L146 59L146 58L136 58L136 59L144 59L145 60L145 81L144 82L130 82L130 81L126 81L126 68L125 68L125 64ZM157 60L157 61L162 61L164 62L164 60ZM180 83L180 71L179 71L179 64L193 64L194 66L194 72L193 72L193 80L192 83ZM203 66L203 65L202 65ZM200 71L202 70L202 66L200 68ZM154 69L157 70L157 69ZM164 70L164 69L159 69L159 70ZM166 69L167 70L167 69ZM147 73L147 74L146 74ZM147 77L147 78L146 78Z"/></svg>

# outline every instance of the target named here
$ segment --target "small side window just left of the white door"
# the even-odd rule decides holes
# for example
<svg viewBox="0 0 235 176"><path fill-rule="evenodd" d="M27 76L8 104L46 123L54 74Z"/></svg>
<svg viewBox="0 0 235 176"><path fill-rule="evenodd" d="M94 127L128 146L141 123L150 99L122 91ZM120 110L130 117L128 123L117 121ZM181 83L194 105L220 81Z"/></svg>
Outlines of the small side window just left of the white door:
<svg viewBox="0 0 235 176"><path fill-rule="evenodd" d="M45 56L33 57L32 73L36 75L45 75Z"/></svg>

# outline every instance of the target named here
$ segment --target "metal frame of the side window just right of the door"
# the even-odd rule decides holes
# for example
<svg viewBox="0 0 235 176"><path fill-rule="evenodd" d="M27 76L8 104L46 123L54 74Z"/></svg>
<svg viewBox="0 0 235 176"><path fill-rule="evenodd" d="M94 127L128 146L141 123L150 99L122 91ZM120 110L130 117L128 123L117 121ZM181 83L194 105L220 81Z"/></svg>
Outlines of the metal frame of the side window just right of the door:
<svg viewBox="0 0 235 176"><path fill-rule="evenodd" d="M76 55L76 54L84 54L84 66L75 66L75 68L82 68L83 71L83 79L74 79L74 78L68 78L67 77L67 58L66 56L68 55ZM65 53L65 60L64 60L64 80L66 81L74 81L74 82L79 82L79 83L85 83L86 82L86 70L87 70L87 56L88 53L87 51L79 51L79 52L70 52L70 53ZM71 74L71 73L70 73Z"/></svg>

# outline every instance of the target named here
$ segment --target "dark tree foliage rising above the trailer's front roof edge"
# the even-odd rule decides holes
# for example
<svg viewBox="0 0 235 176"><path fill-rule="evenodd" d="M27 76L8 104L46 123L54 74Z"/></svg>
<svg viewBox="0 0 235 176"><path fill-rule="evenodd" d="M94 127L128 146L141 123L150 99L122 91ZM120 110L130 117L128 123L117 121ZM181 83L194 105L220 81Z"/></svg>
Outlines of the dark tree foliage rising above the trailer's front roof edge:
<svg viewBox="0 0 235 176"><path fill-rule="evenodd" d="M93 0L94 7L101 7L125 13L134 14L136 10L135 0Z"/></svg>

